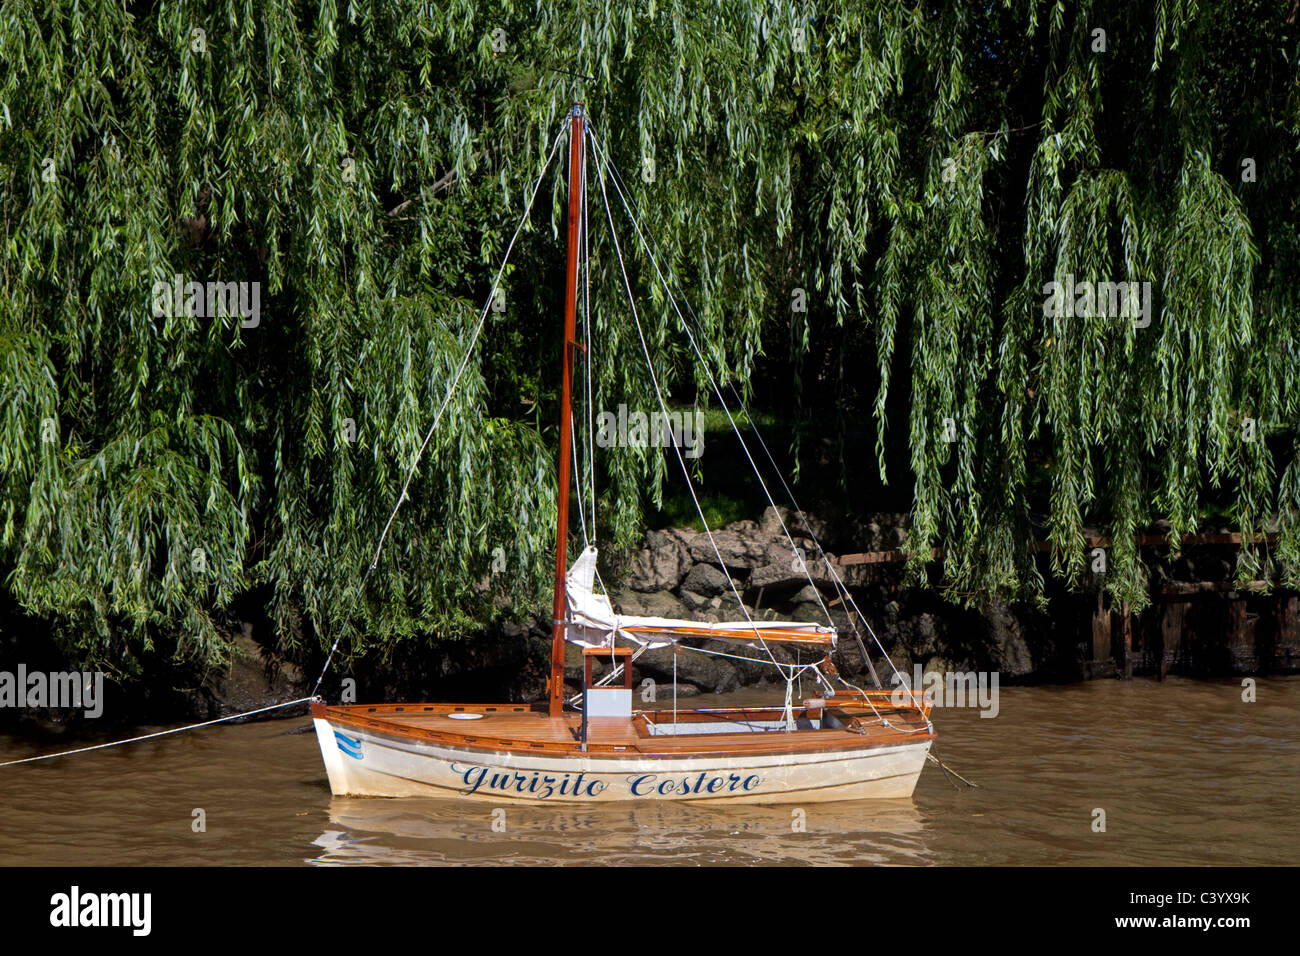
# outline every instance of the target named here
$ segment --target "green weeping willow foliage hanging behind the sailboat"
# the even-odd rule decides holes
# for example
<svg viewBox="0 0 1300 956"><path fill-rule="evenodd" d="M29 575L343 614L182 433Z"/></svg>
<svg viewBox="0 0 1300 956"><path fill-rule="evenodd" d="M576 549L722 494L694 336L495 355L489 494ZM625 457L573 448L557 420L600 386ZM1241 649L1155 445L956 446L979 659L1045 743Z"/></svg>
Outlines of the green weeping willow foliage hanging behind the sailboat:
<svg viewBox="0 0 1300 956"><path fill-rule="evenodd" d="M660 381L844 451L868 423L846 484L911 489L915 571L1040 593L1045 536L1078 587L1095 527L1141 606L1135 532L1213 512L1295 587L1297 30L1294 0L5 3L8 600L130 671L220 662L250 596L354 650L545 597L563 150L451 385L575 95L698 323L705 365L615 209ZM594 405L655 408L590 202ZM176 281L260 308L159 310ZM625 542L676 463L607 458Z"/></svg>

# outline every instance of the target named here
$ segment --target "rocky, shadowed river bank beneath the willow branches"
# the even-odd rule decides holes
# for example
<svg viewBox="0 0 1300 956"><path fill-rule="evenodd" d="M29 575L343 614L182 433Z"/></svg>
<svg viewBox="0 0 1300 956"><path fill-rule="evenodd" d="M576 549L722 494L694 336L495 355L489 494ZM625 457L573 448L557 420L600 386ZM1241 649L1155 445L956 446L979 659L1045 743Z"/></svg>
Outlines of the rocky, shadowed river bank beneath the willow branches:
<svg viewBox="0 0 1300 956"><path fill-rule="evenodd" d="M1002 684L1300 670L1300 600L1295 592L1238 589L1232 581L1235 548L1188 548L1178 555L1144 548L1153 604L1128 617L1126 632L1121 609L1101 598L1100 581L1083 593L1049 591L1041 605L1009 604L994 596L965 606L945 601L937 589L907 587L897 559L906 535L902 514L829 523L767 509L758 520L723 527L712 540L689 528L651 531L629 554L602 553L602 579L611 585L618 581L610 598L627 614L737 620L745 617L741 602L757 620L824 623L829 613L840 631L833 661L848 680L862 685L871 679L836 578L879 639L878 646L858 622L862 644L887 687L890 662L909 676L916 666L941 672L997 671ZM854 554L845 559L828 550L822 558L815 541ZM885 551L889 554L880 554ZM864 561L863 553L875 554ZM256 628L244 623L231 666L226 672L208 674L195 689L156 689L166 682L113 687L112 711L134 719L207 719L304 696L322 658L317 653L304 661L282 659L274 653L273 635L265 631L263 623ZM750 653L731 643L697 644ZM32 653L44 646L0 646L6 652L0 656L35 666L39 659ZM780 645L772 650L781 659L796 659L792 654L798 653L809 659L814 653ZM358 662L352 672L332 669L324 693L339 700L342 682L351 679L356 701L538 701L545 697L549 662L549 620L507 622L478 637L432 649L424 643L396 645L386 661ZM51 659L46 666L56 669L57 663ZM663 648L642 654L636 678L651 678L659 693L671 693L672 652ZM760 687L774 679L779 680L775 670L763 663L676 656L679 697ZM568 648L566 682L571 692L578 691L581 656L576 648ZM60 732L66 730L64 714L25 713L21 732Z"/></svg>

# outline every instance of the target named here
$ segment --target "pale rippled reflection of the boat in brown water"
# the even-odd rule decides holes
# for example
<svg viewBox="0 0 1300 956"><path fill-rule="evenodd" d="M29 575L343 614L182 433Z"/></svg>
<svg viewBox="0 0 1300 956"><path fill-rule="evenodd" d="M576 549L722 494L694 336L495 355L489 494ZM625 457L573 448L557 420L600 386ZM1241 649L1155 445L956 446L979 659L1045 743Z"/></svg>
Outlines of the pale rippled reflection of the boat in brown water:
<svg viewBox="0 0 1300 956"><path fill-rule="evenodd" d="M933 862L911 800L798 806L655 801L467 804L332 797L316 865L592 862L611 865L862 865Z"/></svg>

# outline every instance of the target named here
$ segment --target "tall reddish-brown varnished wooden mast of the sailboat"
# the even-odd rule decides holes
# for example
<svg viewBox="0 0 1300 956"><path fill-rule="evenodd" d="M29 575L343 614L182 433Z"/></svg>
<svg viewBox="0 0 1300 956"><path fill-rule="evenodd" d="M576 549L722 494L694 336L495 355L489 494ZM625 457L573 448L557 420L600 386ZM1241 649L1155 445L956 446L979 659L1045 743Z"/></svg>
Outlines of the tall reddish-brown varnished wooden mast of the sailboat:
<svg viewBox="0 0 1300 956"><path fill-rule="evenodd" d="M564 380L560 386L560 460L556 475L559 488L556 489L555 503L559 510L559 522L555 529L555 607L551 617L551 676L547 682L550 689L550 715L560 717L564 713L564 614L567 600L564 593L564 579L568 572L568 494L569 494L569 455L572 454L572 381L573 381L573 350L577 342L573 341L573 323L577 311L577 243L578 221L582 215L582 104L575 103L569 113L569 215L568 215L568 271L564 280Z"/></svg>

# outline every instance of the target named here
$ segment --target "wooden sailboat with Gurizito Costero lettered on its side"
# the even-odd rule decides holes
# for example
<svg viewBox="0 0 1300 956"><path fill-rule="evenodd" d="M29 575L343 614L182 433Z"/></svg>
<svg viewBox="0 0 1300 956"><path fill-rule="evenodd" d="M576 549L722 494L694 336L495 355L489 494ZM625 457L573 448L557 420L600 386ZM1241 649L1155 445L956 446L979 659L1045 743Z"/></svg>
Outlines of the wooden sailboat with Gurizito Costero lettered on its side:
<svg viewBox="0 0 1300 956"><path fill-rule="evenodd" d="M741 620L624 615L615 611L599 584L598 551L593 544L568 564L569 466L576 471L576 459L571 462L573 363L575 355L585 349L576 339L576 312L578 251L580 246L585 248L580 224L585 225L588 142L601 173L607 211L604 174L610 166L608 153L589 129L581 103L573 105L566 122L568 263L547 700L537 705L329 705L316 697L311 713L330 790L335 796L443 796L498 804L646 800L781 804L911 796L935 740L930 706L911 693L905 680L893 691L881 688L857 624L854 636L876 689L855 687L838 675L829 656L838 639L829 613L827 624L754 620L736 593ZM563 137L564 130L556 137L556 147ZM619 189L618 182L614 185ZM610 226L612 230L612 216ZM621 252L619 259L621 265ZM630 285L627 291L630 297ZM662 394L660 405L667 414ZM740 437L738 429L736 433ZM784 520L781 524L784 528ZM707 522L705 529L725 572ZM792 551L797 551L793 538L789 540ZM831 580L841 600L866 624L833 571ZM571 700L566 700L564 687L566 643L581 646L584 658L581 693ZM718 643L734 648L732 656L776 669L785 680L784 704L679 708L675 682L671 709L633 708L633 672L642 652L670 646L675 656L728 656L729 652L716 650ZM793 648L793 653L779 657L774 653L776 646ZM812 652L811 658L807 652ZM884 659L888 661L887 654ZM594 676L597 662L607 665L601 669L606 672L599 679ZM894 675L900 680L897 671ZM796 700L796 688L802 688L805 679L819 692Z"/></svg>

